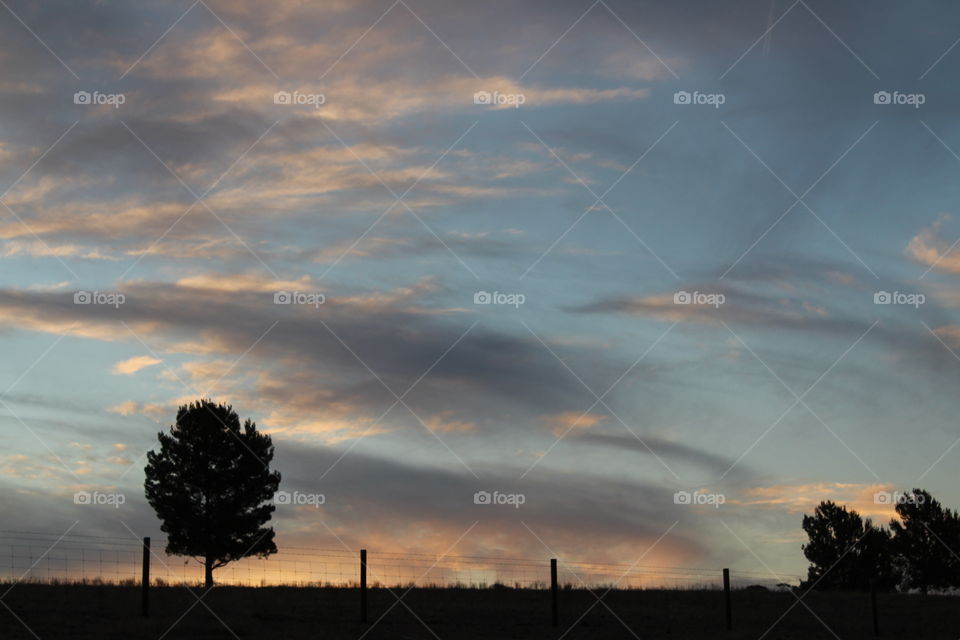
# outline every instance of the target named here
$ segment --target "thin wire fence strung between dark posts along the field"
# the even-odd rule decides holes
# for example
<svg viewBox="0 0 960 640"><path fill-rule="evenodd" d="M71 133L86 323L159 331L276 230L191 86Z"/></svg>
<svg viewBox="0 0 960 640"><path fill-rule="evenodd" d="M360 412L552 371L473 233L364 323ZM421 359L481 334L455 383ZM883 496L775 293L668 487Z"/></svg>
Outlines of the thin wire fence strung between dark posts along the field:
<svg viewBox="0 0 960 640"><path fill-rule="evenodd" d="M157 541L159 542L159 541ZM151 582L200 584L203 567L193 559L152 547ZM0 579L29 582L138 584L142 542L132 537L83 536L0 531ZM561 588L720 589L721 568L664 567L565 561L557 563ZM798 575L731 570L731 586L775 587L796 584ZM216 582L245 586L355 587L360 581L359 550L281 546L266 559L245 558L215 572ZM454 556L370 550L367 579L371 587L463 587L547 589L548 558Z"/></svg>

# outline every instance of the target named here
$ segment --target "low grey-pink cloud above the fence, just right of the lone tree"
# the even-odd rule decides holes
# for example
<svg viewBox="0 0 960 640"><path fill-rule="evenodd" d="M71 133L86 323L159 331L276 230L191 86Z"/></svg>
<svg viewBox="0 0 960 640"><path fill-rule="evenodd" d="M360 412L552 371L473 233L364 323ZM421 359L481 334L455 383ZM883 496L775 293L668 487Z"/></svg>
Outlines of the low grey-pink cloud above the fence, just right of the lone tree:
<svg viewBox="0 0 960 640"><path fill-rule="evenodd" d="M278 449L277 457L287 490L314 491L318 474L323 475L324 518L347 544L353 544L357 532L364 531L365 540L382 540L391 548L413 549L427 543L442 546L444 542L449 546L480 520L457 547L459 554L489 553L499 541L512 539L516 553L539 555L543 547L522 520L564 557L605 561L627 548L636 555L637 540L652 543L674 522L670 518L675 514L663 508L672 504L672 496L633 481L611 486L589 473L566 471L530 477L520 486L516 470L499 465L486 468L482 480L477 481L460 471L416 467L357 451L324 475L336 460L334 451L309 445ZM523 492L523 509L476 505L473 494L490 489ZM607 492L611 499L597 500L598 491ZM633 499L637 495L648 498ZM436 531L437 539L421 539L416 531L424 528ZM708 554L682 531L663 542L662 548L658 545L651 553L663 562L690 561Z"/></svg>

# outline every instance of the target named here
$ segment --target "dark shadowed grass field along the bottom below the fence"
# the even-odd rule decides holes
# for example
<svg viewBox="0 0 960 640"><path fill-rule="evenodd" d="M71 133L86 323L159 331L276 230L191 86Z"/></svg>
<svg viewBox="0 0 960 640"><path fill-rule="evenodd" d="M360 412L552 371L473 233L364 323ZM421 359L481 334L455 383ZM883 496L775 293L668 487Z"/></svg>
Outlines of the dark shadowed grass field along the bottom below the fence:
<svg viewBox="0 0 960 640"><path fill-rule="evenodd" d="M4 586L3 591L8 588ZM194 593L203 592L195 589ZM394 593L400 595L402 591ZM369 623L361 624L356 589L216 587L203 598L203 604L190 609L196 598L186 588L157 587L151 592L151 616L145 620L140 617L137 587L19 584L2 598L9 609L0 607L0 638L873 637L866 594L811 593L804 603L812 613L798 604L779 622L778 618L796 602L791 593L742 590L734 591L732 598L734 630L728 632L724 628L723 593L715 590L612 591L603 600L609 610L598 603L582 618L596 598L588 591L564 590L560 592L560 625L552 627L550 593L531 589L413 589L403 599L409 609L404 604L390 609L396 598L386 589L371 589ZM882 637L960 637L957 598L881 594L878 604Z"/></svg>

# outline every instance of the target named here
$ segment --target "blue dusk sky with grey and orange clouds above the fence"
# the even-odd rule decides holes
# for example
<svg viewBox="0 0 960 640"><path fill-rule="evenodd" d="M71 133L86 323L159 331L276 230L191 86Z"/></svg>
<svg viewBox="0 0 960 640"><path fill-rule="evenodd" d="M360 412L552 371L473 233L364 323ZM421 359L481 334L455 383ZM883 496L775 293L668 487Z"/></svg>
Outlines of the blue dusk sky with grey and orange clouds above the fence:
<svg viewBox="0 0 960 640"><path fill-rule="evenodd" d="M281 550L795 576L820 500L960 505L958 19L5 0L5 527L160 539L200 397L323 496Z"/></svg>

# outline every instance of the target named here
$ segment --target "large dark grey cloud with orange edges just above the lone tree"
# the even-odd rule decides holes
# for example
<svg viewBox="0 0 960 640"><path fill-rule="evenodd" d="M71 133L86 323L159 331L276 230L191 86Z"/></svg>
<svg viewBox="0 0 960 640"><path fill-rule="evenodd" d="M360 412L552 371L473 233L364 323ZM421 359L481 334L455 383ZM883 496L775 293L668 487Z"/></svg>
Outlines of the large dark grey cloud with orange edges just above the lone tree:
<svg viewBox="0 0 960 640"><path fill-rule="evenodd" d="M468 331L471 318L429 306L426 301L444 289L436 279L330 295L319 308L275 305L261 292L272 283L240 280L251 289L226 276L219 281L194 276L189 283L128 282L119 308L75 305L69 293L0 290L0 317L16 317L21 329L139 348L135 334L158 352L203 355L161 379L174 384L179 395L181 381L190 387L187 395L215 386L219 396L242 399L266 416L267 428L363 433L395 401L391 391L400 394L418 380L406 403L447 432L479 430L481 423L503 428L506 415L532 425L548 408L561 414L581 409L576 382L528 333L482 326ZM133 334L117 331L121 321ZM565 349L584 375L596 366L589 348ZM141 356L117 370L133 372L153 360ZM227 371L230 375L220 380ZM133 402L113 410L154 413L149 405ZM377 427L375 433L422 429L402 410Z"/></svg>

